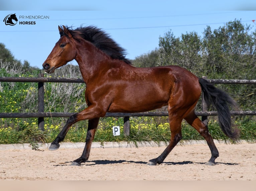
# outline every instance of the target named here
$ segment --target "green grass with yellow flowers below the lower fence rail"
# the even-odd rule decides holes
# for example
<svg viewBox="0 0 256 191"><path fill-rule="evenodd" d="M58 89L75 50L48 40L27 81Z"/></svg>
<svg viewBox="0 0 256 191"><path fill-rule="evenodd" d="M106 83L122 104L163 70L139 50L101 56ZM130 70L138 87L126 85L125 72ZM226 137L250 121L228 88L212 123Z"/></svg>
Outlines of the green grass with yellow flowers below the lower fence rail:
<svg viewBox="0 0 256 191"><path fill-rule="evenodd" d="M2 119L3 120L3 119ZM37 127L36 119L32 121L21 121L16 119L12 121L12 124L19 124L19 128L11 126L0 128L0 144L14 144L14 143L45 143L52 142L57 134L60 132L63 124L52 124L49 120L45 123L45 130L41 131ZM156 123L152 117L131 117L130 119L130 135L125 136L123 133L123 119L115 119L113 117L102 118L95 135L95 142L106 141L164 141L168 142L170 139L169 124L165 119L162 119L162 123ZM10 122L10 121L9 121ZM256 141L256 121L251 119L239 119L234 121L235 125L240 129L240 139L248 142ZM9 123L10 124L10 123ZM5 124L6 125L6 124ZM112 127L120 126L120 136L113 136ZM78 122L74 127L71 127L65 142L85 142L87 128L86 121ZM229 140L221 131L218 121L210 119L209 131L214 139L217 140ZM182 122L182 139L183 140L202 140L204 139L193 127L186 122Z"/></svg>

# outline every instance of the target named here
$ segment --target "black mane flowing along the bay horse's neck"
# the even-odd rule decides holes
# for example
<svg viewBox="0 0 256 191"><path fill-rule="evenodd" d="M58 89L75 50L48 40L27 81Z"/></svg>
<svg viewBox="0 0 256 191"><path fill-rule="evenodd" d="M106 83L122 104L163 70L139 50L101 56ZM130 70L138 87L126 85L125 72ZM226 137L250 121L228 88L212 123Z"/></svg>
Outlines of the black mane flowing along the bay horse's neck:
<svg viewBox="0 0 256 191"><path fill-rule="evenodd" d="M94 44L97 48L109 55L112 59L119 59L127 64L132 64L131 61L125 58L126 51L113 39L110 38L102 29L95 26L79 27L75 30L70 30L71 27L67 27L72 37L78 41L85 39ZM62 32L60 36L64 35Z"/></svg>

